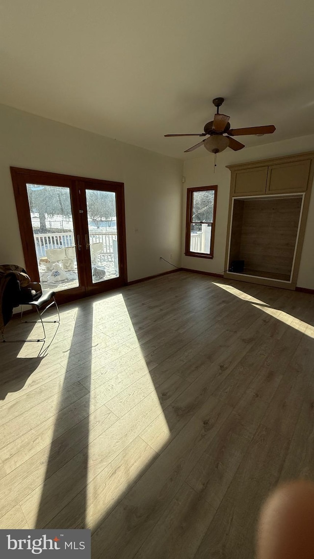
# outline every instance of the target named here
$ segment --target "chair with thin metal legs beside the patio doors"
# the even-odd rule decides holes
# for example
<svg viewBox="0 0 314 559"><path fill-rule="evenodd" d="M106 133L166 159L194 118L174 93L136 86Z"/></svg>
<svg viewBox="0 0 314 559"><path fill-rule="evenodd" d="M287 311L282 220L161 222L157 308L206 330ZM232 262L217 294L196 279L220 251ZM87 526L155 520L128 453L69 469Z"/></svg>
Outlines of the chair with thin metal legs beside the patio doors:
<svg viewBox="0 0 314 559"><path fill-rule="evenodd" d="M21 288L20 282L18 283L19 293L18 293L18 300L17 305L21 305L21 322L28 323L28 324L40 324L42 326L42 330L44 333L43 338L35 338L35 339L19 339L19 340L5 340L3 335L3 342L45 342L46 340L46 330L44 324L55 323L60 324L60 313L59 307L55 300L55 291L47 291L42 293L42 288L40 283L30 283L27 288ZM35 291L35 294L34 294ZM23 307L24 305L30 305L34 309L36 309L37 314L39 316L39 320L23 320ZM58 320L42 320L42 315L50 309L50 307L55 306L56 311L58 312ZM44 307L44 310L41 309Z"/></svg>

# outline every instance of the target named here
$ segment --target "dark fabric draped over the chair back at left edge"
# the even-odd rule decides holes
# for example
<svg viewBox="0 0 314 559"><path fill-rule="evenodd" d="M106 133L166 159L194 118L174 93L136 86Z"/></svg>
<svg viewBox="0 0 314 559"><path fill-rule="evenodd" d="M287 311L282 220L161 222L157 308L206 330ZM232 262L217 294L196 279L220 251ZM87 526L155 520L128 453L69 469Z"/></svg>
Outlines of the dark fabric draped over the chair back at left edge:
<svg viewBox="0 0 314 559"><path fill-rule="evenodd" d="M2 264L0 266L0 331L3 333L4 326L12 318L13 307L17 302L17 281L21 287L30 283L30 277L24 268L16 264Z"/></svg>

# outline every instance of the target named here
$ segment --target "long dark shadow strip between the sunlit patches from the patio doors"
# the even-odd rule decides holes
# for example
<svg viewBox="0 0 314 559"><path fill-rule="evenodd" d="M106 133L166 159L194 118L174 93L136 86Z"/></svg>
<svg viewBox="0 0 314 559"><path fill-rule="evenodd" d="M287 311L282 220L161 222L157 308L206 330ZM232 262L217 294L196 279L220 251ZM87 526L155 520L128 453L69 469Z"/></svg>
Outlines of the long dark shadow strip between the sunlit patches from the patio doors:
<svg viewBox="0 0 314 559"><path fill-rule="evenodd" d="M93 322L93 307L89 312L89 320ZM76 341L76 331L81 330L80 319L84 322L84 313L78 307L77 316L73 330L72 344L68 355L69 366L66 367L64 374L63 388L58 402L49 458L45 473L44 487L40 494L40 503L37 509L36 528L43 528L62 508L62 502L66 504L69 494L73 491L73 496L79 489L82 489L82 510L85 510L88 475L88 442L89 442L89 414L90 410L90 390L91 390L91 357L84 363L84 375L75 378L73 376L72 357L77 355L77 348L74 347ZM84 343L89 342L90 352L92 352L93 329L86 329ZM82 382L80 382L82 381ZM66 462L77 455L77 461L73 471L66 471ZM63 472L63 465L65 464ZM60 469L61 468L61 469ZM59 471L62 484L66 484L66 493L59 492L53 476ZM75 473L79 471L79 485ZM68 474L68 477L66 477ZM54 510L55 506L55 510ZM63 528L63 527L62 527Z"/></svg>

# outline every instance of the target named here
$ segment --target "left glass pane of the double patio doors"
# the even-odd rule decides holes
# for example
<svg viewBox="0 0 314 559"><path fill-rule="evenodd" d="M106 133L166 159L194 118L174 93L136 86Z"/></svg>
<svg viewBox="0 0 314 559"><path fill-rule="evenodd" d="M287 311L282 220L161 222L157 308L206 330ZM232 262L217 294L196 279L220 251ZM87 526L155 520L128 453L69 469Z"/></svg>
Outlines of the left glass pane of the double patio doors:
<svg viewBox="0 0 314 559"><path fill-rule="evenodd" d="M70 188L26 183L42 288L79 286Z"/></svg>

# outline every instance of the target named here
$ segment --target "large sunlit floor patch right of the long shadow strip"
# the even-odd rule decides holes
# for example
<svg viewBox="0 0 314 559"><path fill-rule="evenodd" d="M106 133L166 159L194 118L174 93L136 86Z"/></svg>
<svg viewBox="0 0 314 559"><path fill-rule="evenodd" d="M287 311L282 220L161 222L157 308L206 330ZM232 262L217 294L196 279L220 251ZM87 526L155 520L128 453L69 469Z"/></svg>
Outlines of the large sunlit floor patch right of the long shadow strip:
<svg viewBox="0 0 314 559"><path fill-rule="evenodd" d="M93 330L97 328L99 315L103 317L106 312L108 321L102 329L117 347L131 344L127 353L121 358L111 362L109 366L115 367L115 376L109 381L114 385L120 380L125 388L117 391L117 395L105 404L108 409L118 414L118 419L112 427L108 428L98 439L91 441L91 456L88 457L87 480L85 493L85 525L96 528L97 524L110 513L115 503L126 494L137 477L149 466L152 459L158 454L140 438L140 433L157 417L159 428L162 428L164 438L168 439L170 430L161 407L155 385L150 377L148 366L140 350L132 320L121 294L115 295L106 301L96 301L93 304ZM115 332L113 334L113 331ZM136 344L134 343L136 340ZM113 348L114 350L114 348ZM97 376L106 375L106 364L103 369L95 372ZM125 379L134 372L140 371L139 378L125 382ZM136 376L134 377L136 378ZM123 380L124 379L124 380ZM102 385L104 386L104 385ZM92 386L93 388L93 376ZM110 387L109 387L110 389ZM97 394L97 389L94 390ZM146 403L147 402L147 403ZM126 415L123 415L125 407ZM151 410L151 416L150 414ZM144 423L143 423L144 422ZM90 423L89 433L93 425ZM116 449L121 446L121 453L113 458L100 473L97 473L97 455L102 454L101 447L107 446L108 455L115 455ZM106 454L107 454L106 452Z"/></svg>

